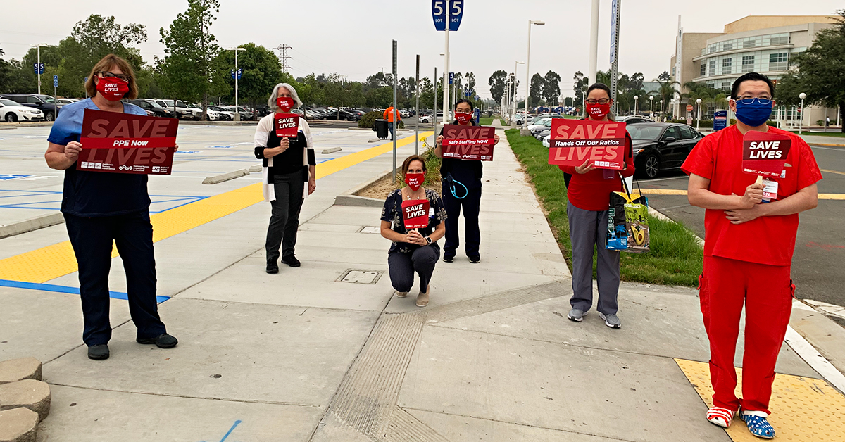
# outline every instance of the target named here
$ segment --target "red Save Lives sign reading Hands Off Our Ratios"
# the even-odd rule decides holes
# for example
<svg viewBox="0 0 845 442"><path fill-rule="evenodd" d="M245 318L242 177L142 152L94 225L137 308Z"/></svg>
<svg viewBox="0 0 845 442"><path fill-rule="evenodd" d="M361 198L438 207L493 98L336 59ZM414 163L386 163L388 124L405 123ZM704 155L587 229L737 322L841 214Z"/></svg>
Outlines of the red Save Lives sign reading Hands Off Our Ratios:
<svg viewBox="0 0 845 442"><path fill-rule="evenodd" d="M548 164L581 166L590 161L599 169L624 169L625 123L590 120L552 120Z"/></svg>

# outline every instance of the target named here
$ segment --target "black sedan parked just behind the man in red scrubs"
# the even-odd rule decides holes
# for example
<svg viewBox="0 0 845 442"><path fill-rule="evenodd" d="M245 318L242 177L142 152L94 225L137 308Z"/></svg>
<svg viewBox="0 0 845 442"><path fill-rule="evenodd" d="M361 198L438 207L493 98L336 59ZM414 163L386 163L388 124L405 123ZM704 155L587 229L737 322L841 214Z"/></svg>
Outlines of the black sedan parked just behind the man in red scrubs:
<svg viewBox="0 0 845 442"><path fill-rule="evenodd" d="M657 177L661 171L679 169L704 134L679 123L636 123L626 127L633 140L637 175Z"/></svg>

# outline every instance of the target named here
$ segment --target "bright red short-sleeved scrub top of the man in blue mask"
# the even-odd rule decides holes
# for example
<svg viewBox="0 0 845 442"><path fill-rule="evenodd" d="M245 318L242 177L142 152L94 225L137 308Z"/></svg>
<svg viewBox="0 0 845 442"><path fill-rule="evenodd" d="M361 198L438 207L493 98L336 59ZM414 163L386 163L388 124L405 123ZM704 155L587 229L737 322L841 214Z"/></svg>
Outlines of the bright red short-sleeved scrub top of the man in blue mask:
<svg viewBox="0 0 845 442"><path fill-rule="evenodd" d="M819 166L810 146L796 134L769 128L774 134L788 135L792 147L777 181L777 200L795 194L821 179ZM756 176L742 172L743 134L735 125L709 134L695 145L681 170L710 180L715 194L744 195ZM763 203L765 204L765 203ZM798 232L798 214L760 216L742 224L731 224L724 210L706 210L704 254L764 265L791 265Z"/></svg>

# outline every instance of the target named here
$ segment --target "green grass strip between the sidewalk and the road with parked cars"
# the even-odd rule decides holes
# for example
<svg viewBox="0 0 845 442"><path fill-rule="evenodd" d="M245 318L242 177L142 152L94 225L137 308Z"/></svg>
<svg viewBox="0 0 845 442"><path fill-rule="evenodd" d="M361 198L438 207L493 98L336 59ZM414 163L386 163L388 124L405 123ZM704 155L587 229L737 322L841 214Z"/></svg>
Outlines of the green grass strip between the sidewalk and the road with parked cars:
<svg viewBox="0 0 845 442"><path fill-rule="evenodd" d="M548 225L552 228L567 265L572 267L570 222L566 216L564 173L548 164L548 149L537 139L520 136L518 129L505 131L510 148L525 166L534 186ZM620 259L623 281L677 286L697 286L701 275L703 251L695 234L683 224L649 216L651 251L646 254L623 253ZM593 257L593 277L596 258Z"/></svg>

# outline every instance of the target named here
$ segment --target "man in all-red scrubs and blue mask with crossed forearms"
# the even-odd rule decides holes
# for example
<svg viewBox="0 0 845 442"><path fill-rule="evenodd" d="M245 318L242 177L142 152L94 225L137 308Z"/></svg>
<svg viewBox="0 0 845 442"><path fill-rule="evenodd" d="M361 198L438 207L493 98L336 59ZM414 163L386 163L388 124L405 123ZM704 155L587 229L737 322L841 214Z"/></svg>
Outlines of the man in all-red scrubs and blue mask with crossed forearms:
<svg viewBox="0 0 845 442"><path fill-rule="evenodd" d="M690 175L690 205L706 209L704 273L700 279L701 314L710 339L713 406L707 420L728 427L740 418L757 437L771 439L771 383L777 353L792 311L795 290L789 277L799 212L818 205L815 183L821 179L810 146L798 135L766 125L774 105L774 85L764 75L744 74L733 83L730 101L737 123L707 135L684 162ZM743 137L749 131L792 139L777 185L777 199L764 203L763 184L742 170ZM739 317L745 305L745 353L742 399L733 357Z"/></svg>

